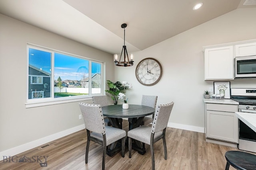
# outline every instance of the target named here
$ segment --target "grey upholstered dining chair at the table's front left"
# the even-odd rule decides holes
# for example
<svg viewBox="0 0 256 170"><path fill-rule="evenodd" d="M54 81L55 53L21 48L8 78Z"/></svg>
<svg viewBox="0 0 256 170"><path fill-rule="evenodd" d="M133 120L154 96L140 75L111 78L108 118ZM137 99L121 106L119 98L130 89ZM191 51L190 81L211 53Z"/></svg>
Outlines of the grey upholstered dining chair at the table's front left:
<svg viewBox="0 0 256 170"><path fill-rule="evenodd" d="M105 126L100 105L79 103L87 133L85 163L88 163L90 141L103 145L102 170L105 169L106 148L111 143L122 139L122 157L124 157L124 141L126 131L111 126Z"/></svg>

